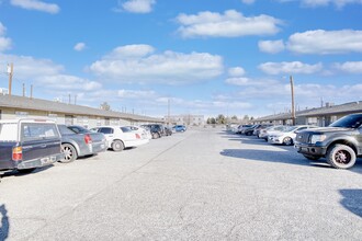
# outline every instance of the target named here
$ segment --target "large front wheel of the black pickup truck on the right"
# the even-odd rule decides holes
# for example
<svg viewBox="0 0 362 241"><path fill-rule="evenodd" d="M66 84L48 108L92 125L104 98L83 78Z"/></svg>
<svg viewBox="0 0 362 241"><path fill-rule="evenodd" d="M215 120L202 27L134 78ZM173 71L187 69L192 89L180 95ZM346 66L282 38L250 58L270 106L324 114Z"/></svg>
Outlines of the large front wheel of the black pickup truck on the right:
<svg viewBox="0 0 362 241"><path fill-rule="evenodd" d="M355 152L346 145L335 145L328 149L327 161L336 169L349 169L355 163Z"/></svg>

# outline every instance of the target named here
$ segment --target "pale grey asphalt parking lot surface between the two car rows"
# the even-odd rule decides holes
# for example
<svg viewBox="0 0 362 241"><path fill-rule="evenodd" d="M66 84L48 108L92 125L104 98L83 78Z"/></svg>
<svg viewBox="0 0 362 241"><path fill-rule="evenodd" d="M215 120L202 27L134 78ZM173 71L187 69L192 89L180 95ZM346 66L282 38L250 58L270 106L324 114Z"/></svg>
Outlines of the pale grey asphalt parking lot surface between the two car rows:
<svg viewBox="0 0 362 241"><path fill-rule="evenodd" d="M0 183L0 240L362 240L362 161L190 129Z"/></svg>

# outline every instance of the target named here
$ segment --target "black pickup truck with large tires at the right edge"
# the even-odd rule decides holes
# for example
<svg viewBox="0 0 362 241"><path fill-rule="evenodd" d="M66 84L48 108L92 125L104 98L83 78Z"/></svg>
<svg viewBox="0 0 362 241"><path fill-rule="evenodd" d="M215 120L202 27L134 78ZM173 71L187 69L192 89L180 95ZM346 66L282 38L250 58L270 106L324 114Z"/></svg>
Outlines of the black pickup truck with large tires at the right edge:
<svg viewBox="0 0 362 241"><path fill-rule="evenodd" d="M309 160L326 158L333 168L352 168L362 156L362 113L347 115L328 127L298 133L295 148Z"/></svg>

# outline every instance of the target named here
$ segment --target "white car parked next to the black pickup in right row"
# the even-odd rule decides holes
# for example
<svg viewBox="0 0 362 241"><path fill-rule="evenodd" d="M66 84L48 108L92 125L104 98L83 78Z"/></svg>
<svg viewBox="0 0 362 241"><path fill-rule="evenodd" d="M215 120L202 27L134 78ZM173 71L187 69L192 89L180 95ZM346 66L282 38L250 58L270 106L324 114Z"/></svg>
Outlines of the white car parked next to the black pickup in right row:
<svg viewBox="0 0 362 241"><path fill-rule="evenodd" d="M269 144L282 144L291 146L295 141L296 133L303 129L316 128L317 126L301 125L301 126L289 126L283 130L274 131L268 136Z"/></svg>

